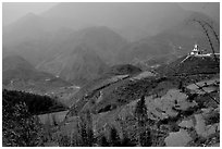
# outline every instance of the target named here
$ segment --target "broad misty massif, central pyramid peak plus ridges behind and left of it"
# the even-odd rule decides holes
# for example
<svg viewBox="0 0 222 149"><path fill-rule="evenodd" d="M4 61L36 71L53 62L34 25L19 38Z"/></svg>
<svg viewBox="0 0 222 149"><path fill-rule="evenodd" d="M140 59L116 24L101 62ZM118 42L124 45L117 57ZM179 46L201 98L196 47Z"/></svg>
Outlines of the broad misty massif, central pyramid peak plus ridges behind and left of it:
<svg viewBox="0 0 222 149"><path fill-rule="evenodd" d="M77 84L82 84L97 77L106 64L118 63L115 58L126 44L126 39L108 27L78 32L61 28L51 36L30 39L15 48L38 70L60 75L65 80L79 79Z"/></svg>

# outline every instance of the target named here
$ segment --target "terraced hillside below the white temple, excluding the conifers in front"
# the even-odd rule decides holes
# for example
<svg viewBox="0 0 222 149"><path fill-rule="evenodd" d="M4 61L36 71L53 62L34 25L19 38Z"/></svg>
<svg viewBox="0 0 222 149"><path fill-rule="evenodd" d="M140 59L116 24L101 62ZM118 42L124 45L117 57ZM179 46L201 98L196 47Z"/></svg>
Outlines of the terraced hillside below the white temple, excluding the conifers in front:
<svg viewBox="0 0 222 149"><path fill-rule="evenodd" d="M218 146L220 122L214 117L219 119L219 71L206 69L212 66L209 59L205 64L205 60L194 59L184 61L183 69L199 66L205 73L187 73L187 78L181 78L146 71L133 76L114 75L82 88L71 98L73 105L65 123L61 123L61 133L67 134L71 125L77 128L78 117L90 111L96 136L108 135L109 128L115 127L120 136L127 134L135 138L137 120L134 112L144 96L153 133L151 146ZM174 66L182 60L173 62ZM182 136L183 141L175 140L176 136Z"/></svg>

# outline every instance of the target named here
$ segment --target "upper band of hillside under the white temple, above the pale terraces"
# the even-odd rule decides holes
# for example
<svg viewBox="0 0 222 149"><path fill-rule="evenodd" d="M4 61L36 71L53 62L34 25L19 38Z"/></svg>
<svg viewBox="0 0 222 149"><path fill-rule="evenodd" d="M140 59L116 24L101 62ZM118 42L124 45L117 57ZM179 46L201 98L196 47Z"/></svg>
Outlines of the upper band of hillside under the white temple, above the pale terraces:
<svg viewBox="0 0 222 149"><path fill-rule="evenodd" d="M115 73L114 75L96 79L83 87L71 98L71 101L74 101L74 111L79 112L81 109L87 108L90 108L94 112L103 111L102 109L109 109L108 107L114 107L115 109L119 105L128 103L134 98L138 98L143 94L146 96L153 95L155 92L160 94L161 90L159 89L164 86L163 84L170 87L178 87L180 79L182 79L180 76L184 76L183 83L188 85L193 83L190 82L193 79L196 82L207 79L220 72L213 57L189 57L183 61L185 58L182 57L176 61L158 67L155 71L156 74L149 71L137 72L133 76L127 73ZM112 70L110 69L110 71ZM85 105L86 108L84 108Z"/></svg>

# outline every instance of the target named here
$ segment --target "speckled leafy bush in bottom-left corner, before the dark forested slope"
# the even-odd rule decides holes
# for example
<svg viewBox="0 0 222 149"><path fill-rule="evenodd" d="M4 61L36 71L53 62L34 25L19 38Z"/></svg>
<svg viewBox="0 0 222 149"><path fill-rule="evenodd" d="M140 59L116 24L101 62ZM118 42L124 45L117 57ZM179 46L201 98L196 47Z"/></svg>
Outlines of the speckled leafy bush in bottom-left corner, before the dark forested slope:
<svg viewBox="0 0 222 149"><path fill-rule="evenodd" d="M5 94L5 92L4 92ZM38 146L41 126L24 101L12 102L3 96L2 101L2 146Z"/></svg>

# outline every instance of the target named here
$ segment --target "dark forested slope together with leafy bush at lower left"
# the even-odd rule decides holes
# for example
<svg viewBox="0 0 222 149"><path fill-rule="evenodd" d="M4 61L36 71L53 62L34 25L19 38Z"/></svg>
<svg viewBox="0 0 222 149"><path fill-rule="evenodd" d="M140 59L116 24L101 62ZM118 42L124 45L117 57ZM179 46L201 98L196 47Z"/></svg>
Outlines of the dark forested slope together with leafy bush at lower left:
<svg viewBox="0 0 222 149"><path fill-rule="evenodd" d="M2 90L3 146L41 146L44 129L37 114L62 109L64 105L50 97Z"/></svg>

